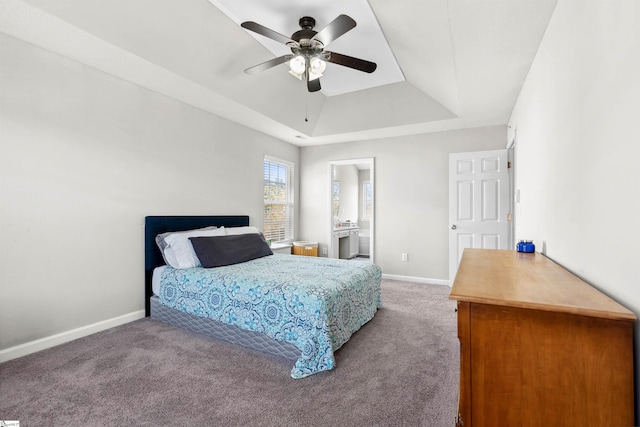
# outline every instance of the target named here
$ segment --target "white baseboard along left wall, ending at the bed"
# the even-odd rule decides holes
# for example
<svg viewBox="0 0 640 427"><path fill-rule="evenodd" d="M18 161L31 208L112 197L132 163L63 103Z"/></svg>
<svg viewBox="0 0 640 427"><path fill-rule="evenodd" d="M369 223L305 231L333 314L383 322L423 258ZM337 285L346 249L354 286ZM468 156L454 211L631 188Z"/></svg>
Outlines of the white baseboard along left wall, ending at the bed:
<svg viewBox="0 0 640 427"><path fill-rule="evenodd" d="M17 359L18 357L26 356L27 354L35 353L40 350L55 347L57 345L73 341L78 338L86 337L87 335L95 334L96 332L101 332L115 326L124 325L125 323L133 322L134 320L142 319L143 317L145 317L144 310L134 311L129 314L114 317L113 319L103 320L98 323L82 326L77 329L72 329L70 331L20 344L15 347L10 347L5 350L0 350L0 363L12 359Z"/></svg>

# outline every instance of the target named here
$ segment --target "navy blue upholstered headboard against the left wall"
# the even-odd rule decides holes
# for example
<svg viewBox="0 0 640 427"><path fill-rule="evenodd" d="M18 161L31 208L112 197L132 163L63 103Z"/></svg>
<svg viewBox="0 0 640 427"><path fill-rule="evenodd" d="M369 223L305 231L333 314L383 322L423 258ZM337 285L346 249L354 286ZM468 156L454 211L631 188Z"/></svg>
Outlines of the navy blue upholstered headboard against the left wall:
<svg viewBox="0 0 640 427"><path fill-rule="evenodd" d="M242 227L249 225L248 215L230 216L147 216L144 219L144 270L145 311L149 316L151 275L153 269L164 265L164 259L156 245L156 236L167 231L184 231L215 225L217 227Z"/></svg>

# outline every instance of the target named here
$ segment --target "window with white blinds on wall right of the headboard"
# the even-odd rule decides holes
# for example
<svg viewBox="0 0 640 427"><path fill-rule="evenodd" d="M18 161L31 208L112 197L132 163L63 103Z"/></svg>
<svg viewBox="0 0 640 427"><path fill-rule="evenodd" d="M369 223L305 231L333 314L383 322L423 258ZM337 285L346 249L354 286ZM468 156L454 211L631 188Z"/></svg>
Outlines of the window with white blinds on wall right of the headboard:
<svg viewBox="0 0 640 427"><path fill-rule="evenodd" d="M264 237L273 242L293 240L293 163L264 158Z"/></svg>

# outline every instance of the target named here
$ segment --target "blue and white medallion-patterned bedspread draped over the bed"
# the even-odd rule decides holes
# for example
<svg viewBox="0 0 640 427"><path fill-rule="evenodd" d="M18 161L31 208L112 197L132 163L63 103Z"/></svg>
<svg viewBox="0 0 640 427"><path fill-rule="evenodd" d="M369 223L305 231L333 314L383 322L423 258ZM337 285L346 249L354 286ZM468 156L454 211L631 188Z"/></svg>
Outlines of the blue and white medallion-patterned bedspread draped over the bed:
<svg viewBox="0 0 640 427"><path fill-rule="evenodd" d="M167 267L160 301L295 345L301 355L291 376L304 378L333 369L333 353L373 318L381 275L365 262L275 254L226 267Z"/></svg>

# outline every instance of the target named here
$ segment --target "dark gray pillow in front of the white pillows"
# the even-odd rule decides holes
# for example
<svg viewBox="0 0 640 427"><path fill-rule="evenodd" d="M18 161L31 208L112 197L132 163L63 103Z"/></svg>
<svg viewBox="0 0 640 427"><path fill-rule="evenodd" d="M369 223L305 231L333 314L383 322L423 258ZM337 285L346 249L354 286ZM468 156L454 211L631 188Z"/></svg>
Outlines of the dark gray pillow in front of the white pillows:
<svg viewBox="0 0 640 427"><path fill-rule="evenodd" d="M189 237L196 255L205 268L238 264L273 255L264 236L259 233L234 236Z"/></svg>

